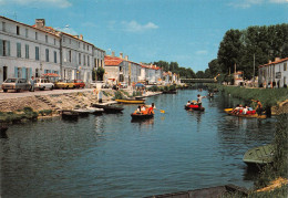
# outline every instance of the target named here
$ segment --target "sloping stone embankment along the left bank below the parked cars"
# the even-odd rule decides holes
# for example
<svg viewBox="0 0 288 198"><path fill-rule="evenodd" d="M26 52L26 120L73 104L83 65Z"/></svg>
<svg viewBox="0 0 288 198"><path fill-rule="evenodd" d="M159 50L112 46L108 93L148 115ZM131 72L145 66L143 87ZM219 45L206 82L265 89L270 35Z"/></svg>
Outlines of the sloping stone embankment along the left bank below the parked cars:
<svg viewBox="0 0 288 198"><path fill-rule="evenodd" d="M112 90L105 91L105 93L107 96L103 95L103 101L110 101L114 95ZM60 110L90 106L91 103L96 102L96 94L93 91L50 95L35 93L33 96L0 100L0 112L14 112L23 107L31 107L35 112L52 110L56 113Z"/></svg>

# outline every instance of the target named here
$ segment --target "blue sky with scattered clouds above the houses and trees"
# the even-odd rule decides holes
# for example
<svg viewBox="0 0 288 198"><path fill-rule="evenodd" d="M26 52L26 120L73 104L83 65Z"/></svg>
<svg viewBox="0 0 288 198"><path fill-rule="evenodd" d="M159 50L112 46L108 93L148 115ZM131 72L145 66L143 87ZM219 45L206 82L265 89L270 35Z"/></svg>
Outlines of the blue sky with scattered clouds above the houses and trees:
<svg viewBox="0 0 288 198"><path fill-rule="evenodd" d="M0 15L48 27L134 62L205 71L230 29L288 23L288 0L0 0Z"/></svg>

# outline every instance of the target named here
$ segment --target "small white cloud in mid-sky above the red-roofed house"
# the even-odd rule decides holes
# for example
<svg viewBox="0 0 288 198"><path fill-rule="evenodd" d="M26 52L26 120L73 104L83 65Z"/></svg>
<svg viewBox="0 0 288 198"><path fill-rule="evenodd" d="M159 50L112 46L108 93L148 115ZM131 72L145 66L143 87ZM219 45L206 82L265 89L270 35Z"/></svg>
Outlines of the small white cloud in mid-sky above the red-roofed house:
<svg viewBox="0 0 288 198"><path fill-rule="evenodd" d="M146 30L153 30L153 29L157 29L158 27L156 24L154 24L153 22L148 22L147 24L140 24L136 21L122 21L121 22L123 30L127 31L127 32L143 32Z"/></svg>

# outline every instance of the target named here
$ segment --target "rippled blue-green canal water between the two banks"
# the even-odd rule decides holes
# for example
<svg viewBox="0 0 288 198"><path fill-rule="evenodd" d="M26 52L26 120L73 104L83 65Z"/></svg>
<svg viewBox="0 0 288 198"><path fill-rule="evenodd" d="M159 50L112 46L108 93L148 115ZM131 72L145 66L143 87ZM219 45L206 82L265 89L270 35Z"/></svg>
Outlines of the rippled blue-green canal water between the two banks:
<svg viewBox="0 0 288 198"><path fill-rule="evenodd" d="M2 197L145 197L219 185L250 188L244 153L271 142L275 118L228 116L239 101L218 93L205 112L184 104L206 91L147 98L155 117L132 123L123 114L78 121L49 118L10 126L1 145Z"/></svg>

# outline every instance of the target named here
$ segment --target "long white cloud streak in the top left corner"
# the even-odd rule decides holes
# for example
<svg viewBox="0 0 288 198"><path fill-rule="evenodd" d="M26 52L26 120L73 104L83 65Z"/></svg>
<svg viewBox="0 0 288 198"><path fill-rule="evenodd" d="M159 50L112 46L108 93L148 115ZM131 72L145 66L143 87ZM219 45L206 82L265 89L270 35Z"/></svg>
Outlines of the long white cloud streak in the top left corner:
<svg viewBox="0 0 288 198"><path fill-rule="evenodd" d="M47 7L53 6L58 8L68 8L72 3L69 0L0 0L0 4L22 4L22 6L39 6Z"/></svg>

